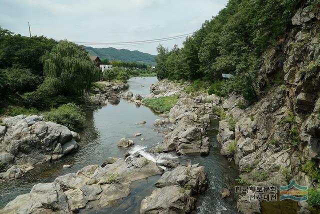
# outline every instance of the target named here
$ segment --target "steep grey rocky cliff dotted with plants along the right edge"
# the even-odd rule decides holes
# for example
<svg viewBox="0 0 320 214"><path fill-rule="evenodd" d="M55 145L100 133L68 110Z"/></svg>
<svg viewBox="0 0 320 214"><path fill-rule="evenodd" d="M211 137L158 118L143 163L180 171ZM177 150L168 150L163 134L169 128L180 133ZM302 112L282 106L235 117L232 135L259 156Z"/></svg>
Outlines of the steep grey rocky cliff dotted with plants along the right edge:
<svg viewBox="0 0 320 214"><path fill-rule="evenodd" d="M282 79L282 85L273 85L246 109L237 106L242 99L237 95L221 105L226 118L219 123L217 139L221 153L239 165L242 180L279 186L294 178L308 187L319 182L301 167L310 160L320 164L319 14L317 8L298 9L285 39L264 53L261 90L275 78ZM243 213L260 213L259 202L247 195L237 207Z"/></svg>

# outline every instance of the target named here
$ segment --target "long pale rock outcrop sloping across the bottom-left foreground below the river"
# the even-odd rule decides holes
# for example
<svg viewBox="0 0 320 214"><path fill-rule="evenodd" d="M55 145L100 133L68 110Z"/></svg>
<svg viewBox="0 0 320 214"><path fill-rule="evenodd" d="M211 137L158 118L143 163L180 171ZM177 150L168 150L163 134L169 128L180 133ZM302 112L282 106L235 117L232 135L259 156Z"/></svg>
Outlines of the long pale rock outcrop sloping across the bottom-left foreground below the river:
<svg viewBox="0 0 320 214"><path fill-rule="evenodd" d="M88 165L76 173L56 177L51 183L35 184L30 193L18 195L1 213L73 213L96 200L95 208L130 193L131 181L161 173L144 157L116 158L104 167Z"/></svg>

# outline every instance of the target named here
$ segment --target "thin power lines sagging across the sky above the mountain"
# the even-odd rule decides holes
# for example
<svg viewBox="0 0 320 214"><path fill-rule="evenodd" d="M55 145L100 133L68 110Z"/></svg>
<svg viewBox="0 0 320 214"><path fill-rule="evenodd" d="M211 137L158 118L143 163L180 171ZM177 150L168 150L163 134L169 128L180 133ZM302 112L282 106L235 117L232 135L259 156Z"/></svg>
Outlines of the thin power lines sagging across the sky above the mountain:
<svg viewBox="0 0 320 214"><path fill-rule="evenodd" d="M164 38L156 38L156 39L149 39L149 40L140 40L140 41L125 41L125 42L84 42L84 41L73 41L77 44L92 44L92 45L123 45L123 44L145 44L145 43L153 43L153 42L159 42L159 41L167 41L177 38L183 38L188 35L192 35L193 33L185 33L181 35L175 35L170 37L164 37Z"/></svg>

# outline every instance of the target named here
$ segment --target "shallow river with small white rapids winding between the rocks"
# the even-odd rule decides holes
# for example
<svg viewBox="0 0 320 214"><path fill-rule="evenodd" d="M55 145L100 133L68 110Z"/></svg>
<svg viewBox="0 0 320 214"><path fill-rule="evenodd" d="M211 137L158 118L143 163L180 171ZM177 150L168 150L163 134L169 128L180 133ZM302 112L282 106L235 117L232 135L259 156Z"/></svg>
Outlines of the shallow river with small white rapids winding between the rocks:
<svg viewBox="0 0 320 214"><path fill-rule="evenodd" d="M149 85L157 82L156 77L132 77L128 80L129 90L134 94L145 96L149 93ZM236 213L234 197L221 198L224 180L234 180L237 176L236 167L230 165L227 159L220 154L220 144L216 141L217 119L212 119L208 129L210 138L210 153L207 156L181 155L174 152L151 154L147 148L163 139L163 134L154 129L153 121L158 116L146 106L136 106L134 103L120 99L118 104L107 104L96 110L86 112L86 127L80 132L81 141L79 149L54 162L47 162L36 166L23 177L0 183L0 207L14 199L18 194L27 193L31 187L39 182L52 182L55 177L76 172L89 164L101 164L108 157L123 157L124 153L140 152L143 156L153 161L173 159L180 163L200 162L205 166L208 178L208 188L205 193L198 195L195 213ZM135 122L145 120L143 125ZM141 136L134 137L140 132ZM133 139L135 144L128 149L119 149L117 142L122 137ZM143 137L144 140L140 138ZM71 168L63 169L63 164L71 164ZM114 201L112 206L102 209L81 209L85 213L139 213L141 200L150 195L155 188L154 183L160 175L132 182L129 196ZM94 203L94 202L92 202Z"/></svg>

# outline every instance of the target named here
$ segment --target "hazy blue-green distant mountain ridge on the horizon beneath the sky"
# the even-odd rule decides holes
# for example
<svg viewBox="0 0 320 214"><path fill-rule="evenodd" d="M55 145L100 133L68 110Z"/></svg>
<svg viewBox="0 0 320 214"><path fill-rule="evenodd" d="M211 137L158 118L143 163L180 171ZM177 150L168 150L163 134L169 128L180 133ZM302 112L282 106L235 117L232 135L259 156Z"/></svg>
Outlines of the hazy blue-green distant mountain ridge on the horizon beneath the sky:
<svg viewBox="0 0 320 214"><path fill-rule="evenodd" d="M89 55L97 55L102 60L108 58L109 60L132 61L136 63L155 64L154 57L149 53L143 53L138 50L116 49L113 47L95 48L83 46Z"/></svg>

